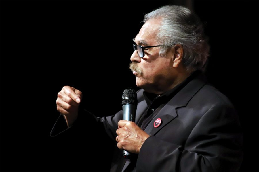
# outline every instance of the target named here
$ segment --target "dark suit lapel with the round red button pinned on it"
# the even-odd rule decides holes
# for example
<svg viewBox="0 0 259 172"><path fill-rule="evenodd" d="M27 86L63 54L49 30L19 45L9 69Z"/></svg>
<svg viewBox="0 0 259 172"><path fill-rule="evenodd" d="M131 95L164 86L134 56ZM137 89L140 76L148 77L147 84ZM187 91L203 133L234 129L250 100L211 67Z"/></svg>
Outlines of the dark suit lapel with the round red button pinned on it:
<svg viewBox="0 0 259 172"><path fill-rule="evenodd" d="M197 77L190 81L182 90L180 90L153 118L153 120L148 124L145 132L148 134L155 135L159 130L161 130L170 121L174 120L178 114L176 109L179 107L184 107L188 104L190 99L205 85L205 82L201 77ZM154 122L157 118L161 118L161 124L159 127L154 127Z"/></svg>

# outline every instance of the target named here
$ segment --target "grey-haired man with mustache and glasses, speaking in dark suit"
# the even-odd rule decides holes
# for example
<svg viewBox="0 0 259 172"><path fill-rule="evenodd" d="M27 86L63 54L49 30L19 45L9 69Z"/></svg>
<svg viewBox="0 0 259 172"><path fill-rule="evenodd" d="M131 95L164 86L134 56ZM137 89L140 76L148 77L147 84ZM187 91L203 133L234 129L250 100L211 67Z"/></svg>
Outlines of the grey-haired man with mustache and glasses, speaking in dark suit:
<svg viewBox="0 0 259 172"><path fill-rule="evenodd" d="M117 153L111 171L238 171L241 127L233 105L202 75L209 46L199 19L184 7L164 6L144 22L130 58L141 88L136 123L122 120L122 111L97 118L79 110L81 91L65 86L56 103L68 130L91 117L120 150L136 154ZM52 136L61 131L58 121Z"/></svg>

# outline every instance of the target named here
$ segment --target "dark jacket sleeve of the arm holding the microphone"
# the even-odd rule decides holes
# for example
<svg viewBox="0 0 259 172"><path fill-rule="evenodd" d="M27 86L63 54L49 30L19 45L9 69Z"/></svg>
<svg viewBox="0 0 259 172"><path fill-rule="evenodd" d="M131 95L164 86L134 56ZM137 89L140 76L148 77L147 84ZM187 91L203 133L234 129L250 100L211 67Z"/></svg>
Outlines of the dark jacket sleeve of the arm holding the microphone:
<svg viewBox="0 0 259 172"><path fill-rule="evenodd" d="M238 116L232 107L216 105L201 117L184 145L149 137L140 149L136 171L233 172L242 159Z"/></svg>

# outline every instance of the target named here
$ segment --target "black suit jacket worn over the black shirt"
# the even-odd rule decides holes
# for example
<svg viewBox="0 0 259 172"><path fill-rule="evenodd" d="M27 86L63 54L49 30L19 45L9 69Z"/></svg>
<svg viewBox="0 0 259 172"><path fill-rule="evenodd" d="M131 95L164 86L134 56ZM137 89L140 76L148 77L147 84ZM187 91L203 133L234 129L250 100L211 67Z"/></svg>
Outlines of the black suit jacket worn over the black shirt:
<svg viewBox="0 0 259 172"><path fill-rule="evenodd" d="M137 92L136 123L148 108L143 89ZM85 111L86 112L86 111ZM79 125L89 114L80 115ZM115 116L93 118L114 140L122 110ZM162 123L153 127L157 118ZM82 124L80 124L82 125ZM54 126L55 128L55 126ZM72 128L72 127L71 127ZM145 129L151 135L140 149L134 171L238 171L243 158L242 132L231 102L201 76L190 81ZM121 154L115 157L116 171ZM127 171L130 160L125 163Z"/></svg>

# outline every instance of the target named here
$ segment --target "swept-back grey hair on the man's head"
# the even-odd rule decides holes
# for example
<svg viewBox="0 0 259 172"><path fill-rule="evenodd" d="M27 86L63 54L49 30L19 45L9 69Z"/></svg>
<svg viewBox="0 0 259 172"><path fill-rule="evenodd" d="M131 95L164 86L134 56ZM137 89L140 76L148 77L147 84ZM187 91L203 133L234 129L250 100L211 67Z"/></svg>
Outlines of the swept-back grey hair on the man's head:
<svg viewBox="0 0 259 172"><path fill-rule="evenodd" d="M144 16L144 22L161 17L157 43L162 46L159 54L165 55L168 48L181 44L184 49L183 64L187 71L204 71L209 56L209 45L200 19L182 6L163 6Z"/></svg>

